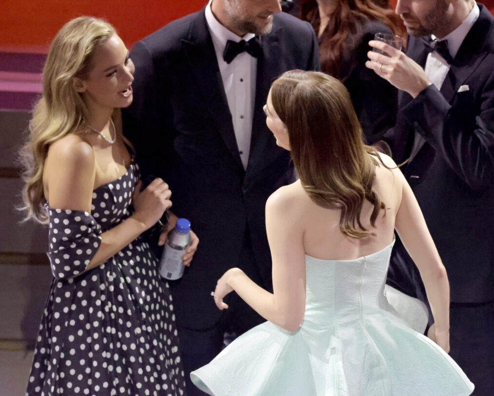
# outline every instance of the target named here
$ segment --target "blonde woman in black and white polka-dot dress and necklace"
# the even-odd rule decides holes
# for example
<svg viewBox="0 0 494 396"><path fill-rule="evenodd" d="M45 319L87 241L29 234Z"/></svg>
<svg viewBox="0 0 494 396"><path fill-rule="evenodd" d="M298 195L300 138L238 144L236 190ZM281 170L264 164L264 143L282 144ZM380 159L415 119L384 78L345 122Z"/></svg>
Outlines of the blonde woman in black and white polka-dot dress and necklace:
<svg viewBox="0 0 494 396"><path fill-rule="evenodd" d="M140 237L171 205L171 192L161 179L141 191L121 133L133 73L123 41L102 20L76 18L51 43L23 151L25 208L49 224L54 277L28 395L185 388L168 285Z"/></svg>

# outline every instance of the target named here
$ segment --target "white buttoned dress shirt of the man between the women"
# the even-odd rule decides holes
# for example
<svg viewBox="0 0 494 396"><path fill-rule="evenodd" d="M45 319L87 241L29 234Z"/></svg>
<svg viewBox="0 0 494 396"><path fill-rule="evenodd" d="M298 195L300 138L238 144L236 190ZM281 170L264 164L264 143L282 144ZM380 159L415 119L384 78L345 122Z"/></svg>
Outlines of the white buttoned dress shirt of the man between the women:
<svg viewBox="0 0 494 396"><path fill-rule="evenodd" d="M211 2L212 0L209 0L206 6L206 23L211 34L216 58L218 59L219 71L232 116L233 130L235 131L240 158L244 169L247 169L250 137L252 135L257 59L247 52L242 52L230 64L227 64L223 60L223 51L227 40L236 42L241 40L248 41L255 35L247 33L244 37L239 37L230 32L213 15Z"/></svg>

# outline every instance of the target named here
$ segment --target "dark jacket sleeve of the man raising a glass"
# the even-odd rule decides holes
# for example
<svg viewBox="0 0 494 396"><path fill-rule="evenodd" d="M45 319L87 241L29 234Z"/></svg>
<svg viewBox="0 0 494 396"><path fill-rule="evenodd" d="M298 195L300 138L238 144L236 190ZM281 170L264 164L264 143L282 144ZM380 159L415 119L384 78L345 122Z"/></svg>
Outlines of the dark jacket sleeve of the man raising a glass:
<svg viewBox="0 0 494 396"><path fill-rule="evenodd" d="M415 131L473 189L488 187L494 179L494 72L481 89L475 94L477 114L470 114L477 106L469 90L457 92L452 107L434 85L403 108Z"/></svg>

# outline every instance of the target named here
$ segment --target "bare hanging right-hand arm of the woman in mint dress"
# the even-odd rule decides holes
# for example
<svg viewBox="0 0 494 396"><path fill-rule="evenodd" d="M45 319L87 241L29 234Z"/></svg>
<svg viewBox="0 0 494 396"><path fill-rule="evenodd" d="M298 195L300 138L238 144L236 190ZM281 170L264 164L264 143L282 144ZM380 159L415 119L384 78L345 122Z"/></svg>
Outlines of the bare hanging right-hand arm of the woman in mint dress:
<svg viewBox="0 0 494 396"><path fill-rule="evenodd" d="M450 284L424 216L412 189L400 170L395 169L403 184L395 228L417 266L424 282L434 317L428 336L446 352L450 351Z"/></svg>

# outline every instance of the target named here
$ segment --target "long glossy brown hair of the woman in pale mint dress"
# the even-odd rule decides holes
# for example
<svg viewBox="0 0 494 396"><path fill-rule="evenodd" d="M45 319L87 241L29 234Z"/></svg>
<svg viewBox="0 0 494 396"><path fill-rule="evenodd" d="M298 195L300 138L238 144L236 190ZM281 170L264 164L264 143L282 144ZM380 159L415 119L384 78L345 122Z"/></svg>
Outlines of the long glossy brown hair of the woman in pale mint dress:
<svg viewBox="0 0 494 396"><path fill-rule="evenodd" d="M382 161L364 145L345 86L324 73L292 70L273 83L271 101L287 126L291 158L309 197L323 207L341 209L343 234L373 235L362 225L360 213L367 199L373 205L374 227L385 207L372 189L375 167Z"/></svg>

